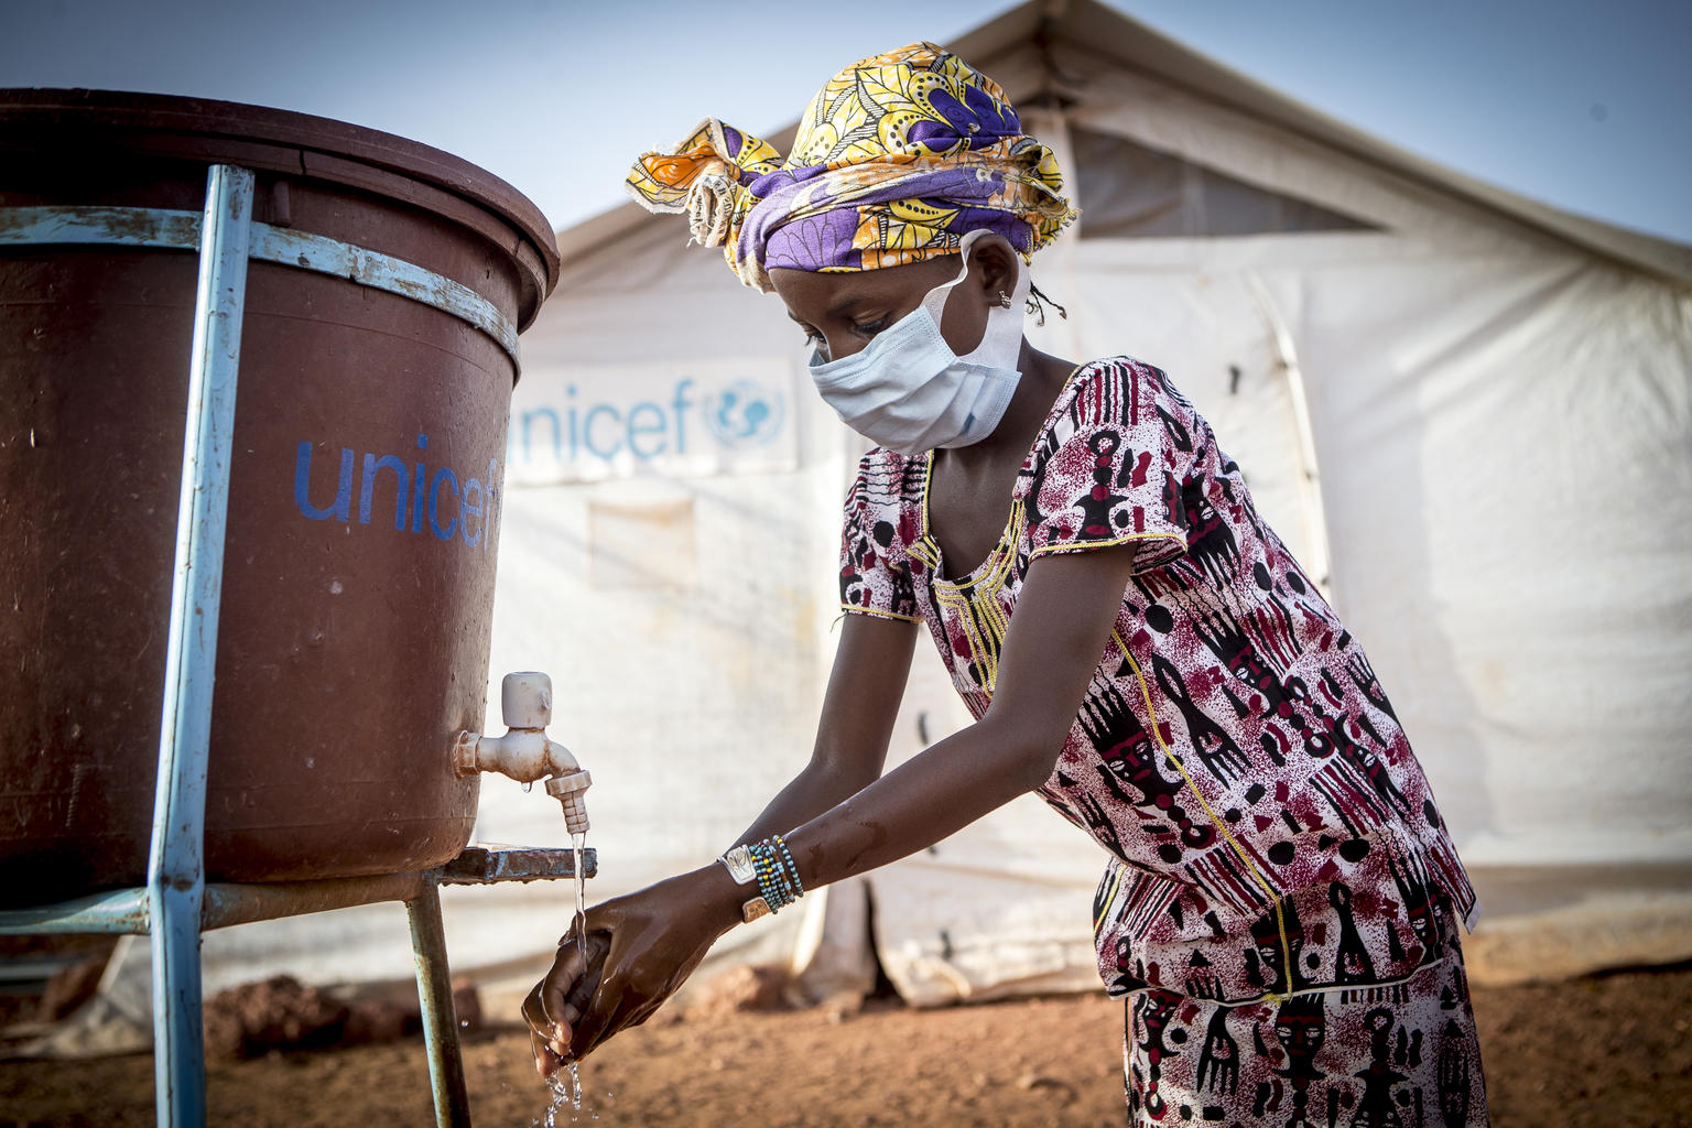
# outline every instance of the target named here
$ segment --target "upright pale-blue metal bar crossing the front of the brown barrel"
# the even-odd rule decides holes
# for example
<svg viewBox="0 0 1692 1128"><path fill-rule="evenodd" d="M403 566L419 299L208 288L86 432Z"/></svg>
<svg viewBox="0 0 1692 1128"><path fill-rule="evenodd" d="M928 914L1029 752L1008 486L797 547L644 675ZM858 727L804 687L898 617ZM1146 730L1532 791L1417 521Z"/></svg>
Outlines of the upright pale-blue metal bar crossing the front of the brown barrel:
<svg viewBox="0 0 1692 1128"><path fill-rule="evenodd" d="M200 1128L206 1120L200 1025L206 753L250 223L252 172L213 164L206 172L200 225L200 284L188 360L188 423L176 514L164 712L159 720L157 802L147 857L152 1072L159 1125L171 1128Z"/></svg>

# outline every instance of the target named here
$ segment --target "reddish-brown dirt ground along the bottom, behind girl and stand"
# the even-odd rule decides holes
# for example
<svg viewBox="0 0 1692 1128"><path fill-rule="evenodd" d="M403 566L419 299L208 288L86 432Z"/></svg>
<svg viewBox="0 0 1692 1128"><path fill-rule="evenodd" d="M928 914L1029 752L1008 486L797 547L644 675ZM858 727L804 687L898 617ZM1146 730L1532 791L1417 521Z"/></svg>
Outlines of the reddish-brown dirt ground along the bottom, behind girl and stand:
<svg viewBox="0 0 1692 1128"><path fill-rule="evenodd" d="M1692 969L1479 988L1474 1001L1497 1128L1692 1126ZM660 1015L582 1065L582 1121L1112 1125L1123 1120L1120 1037L1122 1006L1101 996L937 1011L871 999L851 1015ZM464 1052L477 1125L543 1116L548 1091L521 1032L469 1035ZM152 1125L151 1071L144 1055L0 1064L0 1128ZM213 1064L208 1092L213 1125L433 1123L416 1038ZM558 1123L570 1123L567 1108Z"/></svg>

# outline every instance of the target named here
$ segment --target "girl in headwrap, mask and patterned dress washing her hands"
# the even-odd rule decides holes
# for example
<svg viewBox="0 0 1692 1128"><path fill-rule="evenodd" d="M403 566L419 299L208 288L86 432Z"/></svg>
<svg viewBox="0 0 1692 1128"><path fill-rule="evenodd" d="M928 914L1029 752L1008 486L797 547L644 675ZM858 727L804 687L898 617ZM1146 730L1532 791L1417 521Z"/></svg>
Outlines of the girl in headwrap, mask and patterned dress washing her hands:
<svg viewBox="0 0 1692 1128"><path fill-rule="evenodd" d="M687 211L878 446L810 764L694 873L587 913L528 1003L541 1072L645 1020L743 918L1037 791L1105 847L1100 972L1134 1123L1484 1125L1474 893L1362 648L1157 369L1022 337L1074 211L932 44L812 100L785 161L707 120L629 178ZM1037 291L1036 291L1037 294ZM882 775L926 626L976 717Z"/></svg>

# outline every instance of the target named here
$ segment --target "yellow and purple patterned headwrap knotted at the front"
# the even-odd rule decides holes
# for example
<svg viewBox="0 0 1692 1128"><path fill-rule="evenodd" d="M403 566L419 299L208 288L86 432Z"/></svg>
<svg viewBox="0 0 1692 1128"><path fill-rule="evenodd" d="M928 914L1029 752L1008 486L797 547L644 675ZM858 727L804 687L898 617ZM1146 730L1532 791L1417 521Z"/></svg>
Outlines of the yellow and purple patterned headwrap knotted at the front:
<svg viewBox="0 0 1692 1128"><path fill-rule="evenodd" d="M931 42L829 79L785 161L706 118L673 152L641 156L628 188L651 211L685 211L694 238L765 293L772 269L904 266L956 252L975 228L1027 259L1076 216L1005 91Z"/></svg>

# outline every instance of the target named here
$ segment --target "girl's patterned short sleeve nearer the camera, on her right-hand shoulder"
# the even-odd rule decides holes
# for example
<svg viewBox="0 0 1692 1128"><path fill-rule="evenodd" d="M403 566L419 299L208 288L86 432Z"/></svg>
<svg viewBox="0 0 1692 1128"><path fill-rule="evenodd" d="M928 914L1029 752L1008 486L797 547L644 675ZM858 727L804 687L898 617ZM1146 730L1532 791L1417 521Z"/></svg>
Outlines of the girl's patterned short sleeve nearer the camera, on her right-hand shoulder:
<svg viewBox="0 0 1692 1128"><path fill-rule="evenodd" d="M1134 570L1181 556L1179 404L1161 404L1162 374L1132 360L1076 377L1020 489L1030 556L1135 546Z"/></svg>

